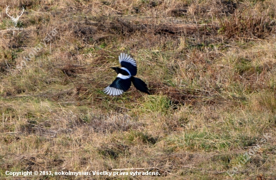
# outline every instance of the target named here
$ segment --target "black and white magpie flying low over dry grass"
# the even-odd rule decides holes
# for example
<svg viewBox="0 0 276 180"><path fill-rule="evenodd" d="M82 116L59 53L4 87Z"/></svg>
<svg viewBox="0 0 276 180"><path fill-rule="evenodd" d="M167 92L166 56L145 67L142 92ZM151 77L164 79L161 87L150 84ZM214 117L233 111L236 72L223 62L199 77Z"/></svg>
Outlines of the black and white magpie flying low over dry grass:
<svg viewBox="0 0 276 180"><path fill-rule="evenodd" d="M121 68L111 68L118 74L117 78L109 86L107 86L103 92L111 96L121 95L130 88L132 82L136 89L150 94L147 84L141 79L134 77L137 74L135 60L127 54L121 53L119 56L119 62L121 64Z"/></svg>

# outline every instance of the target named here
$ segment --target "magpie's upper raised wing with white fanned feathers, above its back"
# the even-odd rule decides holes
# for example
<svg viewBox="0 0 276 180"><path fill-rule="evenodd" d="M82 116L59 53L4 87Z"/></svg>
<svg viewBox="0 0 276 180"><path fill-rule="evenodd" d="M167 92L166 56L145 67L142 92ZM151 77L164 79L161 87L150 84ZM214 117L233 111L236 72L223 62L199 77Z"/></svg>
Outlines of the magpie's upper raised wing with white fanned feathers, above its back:
<svg viewBox="0 0 276 180"><path fill-rule="evenodd" d="M136 62L133 58L125 53L121 53L119 56L119 62L123 68L126 68L131 76L135 76L137 74Z"/></svg>

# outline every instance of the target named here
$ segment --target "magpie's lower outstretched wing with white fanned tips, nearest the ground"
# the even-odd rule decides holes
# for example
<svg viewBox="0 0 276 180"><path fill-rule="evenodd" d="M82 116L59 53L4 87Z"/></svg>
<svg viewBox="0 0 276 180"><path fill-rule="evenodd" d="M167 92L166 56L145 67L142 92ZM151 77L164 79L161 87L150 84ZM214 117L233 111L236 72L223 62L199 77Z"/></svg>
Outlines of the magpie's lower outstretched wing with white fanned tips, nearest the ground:
<svg viewBox="0 0 276 180"><path fill-rule="evenodd" d="M116 78L109 86L104 89L104 93L110 96L118 96L130 88L131 81L128 79Z"/></svg>

